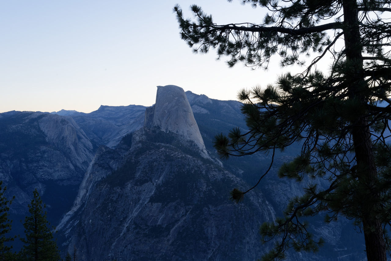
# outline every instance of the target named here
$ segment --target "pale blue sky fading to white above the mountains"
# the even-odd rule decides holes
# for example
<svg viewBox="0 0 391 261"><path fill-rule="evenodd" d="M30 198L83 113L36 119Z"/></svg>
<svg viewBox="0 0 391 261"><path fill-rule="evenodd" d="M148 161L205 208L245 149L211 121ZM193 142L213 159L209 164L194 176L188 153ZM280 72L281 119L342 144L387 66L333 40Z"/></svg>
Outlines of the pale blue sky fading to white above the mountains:
<svg viewBox="0 0 391 261"><path fill-rule="evenodd" d="M281 74L276 65L228 68L214 50L194 54L179 36L175 4L186 17L200 5L219 24L264 17L239 0L0 1L0 113L151 106L158 85L235 100Z"/></svg>

